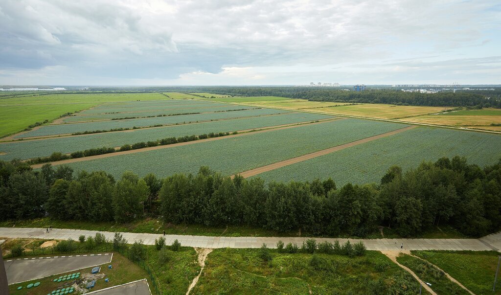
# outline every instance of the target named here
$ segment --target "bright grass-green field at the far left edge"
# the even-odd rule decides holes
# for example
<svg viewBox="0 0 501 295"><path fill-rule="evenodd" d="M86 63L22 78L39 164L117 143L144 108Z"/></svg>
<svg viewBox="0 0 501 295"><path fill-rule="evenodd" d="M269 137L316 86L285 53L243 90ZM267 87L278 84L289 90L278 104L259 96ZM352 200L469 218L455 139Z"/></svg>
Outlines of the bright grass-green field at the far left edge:
<svg viewBox="0 0 501 295"><path fill-rule="evenodd" d="M0 99L0 137L22 131L44 120L52 121L110 101L167 99L159 93L141 94L50 94Z"/></svg>

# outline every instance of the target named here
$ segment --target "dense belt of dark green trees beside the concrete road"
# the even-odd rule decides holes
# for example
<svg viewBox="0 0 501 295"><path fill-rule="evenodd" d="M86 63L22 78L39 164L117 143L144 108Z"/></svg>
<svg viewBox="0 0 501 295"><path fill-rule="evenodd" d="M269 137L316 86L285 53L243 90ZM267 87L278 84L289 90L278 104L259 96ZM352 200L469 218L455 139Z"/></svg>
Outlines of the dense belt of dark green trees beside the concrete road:
<svg viewBox="0 0 501 295"><path fill-rule="evenodd" d="M259 226L277 232L366 236L377 225L402 236L450 225L469 236L501 226L501 160L480 168L465 158L422 162L403 173L392 166L380 183L336 187L332 179L270 182L230 178L201 167L196 175L158 179L125 172L81 172L46 164L33 171L0 161L0 219L129 222L163 216L176 224Z"/></svg>

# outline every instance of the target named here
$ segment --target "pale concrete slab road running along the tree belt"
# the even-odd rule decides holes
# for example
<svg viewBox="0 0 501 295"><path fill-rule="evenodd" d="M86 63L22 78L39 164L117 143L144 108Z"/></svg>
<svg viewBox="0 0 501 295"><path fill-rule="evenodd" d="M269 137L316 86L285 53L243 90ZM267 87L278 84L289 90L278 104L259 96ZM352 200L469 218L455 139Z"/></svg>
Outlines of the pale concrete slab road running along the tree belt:
<svg viewBox="0 0 501 295"><path fill-rule="evenodd" d="M78 240L80 235L95 235L97 232L103 233L106 238L113 239L113 232L95 231L83 229L52 229L49 233L45 228L24 228L24 227L0 227L0 237L7 238L37 238L37 239L68 239ZM144 244L153 245L155 239L161 234L154 233L132 233L124 232L123 237L128 243L142 240ZM284 243L297 243L301 245L308 237L230 237L230 236L202 236L202 235L165 235L166 243L171 244L177 239L182 246L200 247L200 248L259 248L263 243L268 247L275 248L279 240ZM316 238L317 241L340 243L346 242L346 238ZM368 250L400 250L403 243L404 250L495 250L501 249L501 232L490 234L482 238L471 239L407 239L407 238L382 238L382 239L349 239L350 242L364 242Z"/></svg>

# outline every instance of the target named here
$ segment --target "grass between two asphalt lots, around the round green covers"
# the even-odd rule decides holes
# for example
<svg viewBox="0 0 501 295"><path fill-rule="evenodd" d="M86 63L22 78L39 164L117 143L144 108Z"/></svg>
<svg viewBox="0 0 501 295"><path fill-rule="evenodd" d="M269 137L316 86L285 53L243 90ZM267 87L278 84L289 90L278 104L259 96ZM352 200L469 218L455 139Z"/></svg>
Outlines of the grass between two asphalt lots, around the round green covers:
<svg viewBox="0 0 501 295"><path fill-rule="evenodd" d="M108 264L112 265L112 268L109 269L107 267ZM81 276L88 274L91 272L92 267L83 268L78 271L72 271L68 273L81 272ZM93 291L111 287L114 285L120 285L127 282L147 278L150 287L152 286L152 282L149 279L148 273L142 269L137 264L133 263L123 255L118 252L113 252L113 260L111 263L103 264L101 267L101 273L106 274L106 277L109 278L109 282L105 282L104 278L98 279L96 281L96 285L92 288ZM67 274L67 273L64 273ZM9 292L11 295L35 295L35 294L47 294L52 290L57 290L61 288L65 288L71 285L70 282L54 282L53 279L59 277L63 274L51 275L41 279L35 279L32 281L17 283L9 285ZM37 287L27 288L26 286L29 283L41 282L41 284ZM18 286L23 286L21 290L18 290ZM78 292L73 292L78 293Z"/></svg>

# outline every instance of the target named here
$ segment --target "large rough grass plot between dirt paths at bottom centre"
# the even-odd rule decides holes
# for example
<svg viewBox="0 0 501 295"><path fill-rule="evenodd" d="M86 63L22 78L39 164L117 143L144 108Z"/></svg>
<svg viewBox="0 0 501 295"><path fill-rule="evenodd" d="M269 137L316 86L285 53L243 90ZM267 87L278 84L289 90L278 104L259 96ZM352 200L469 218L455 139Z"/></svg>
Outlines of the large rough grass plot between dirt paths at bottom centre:
<svg viewBox="0 0 501 295"><path fill-rule="evenodd" d="M218 294L415 294L418 282L380 252L349 258L316 254L279 254L264 262L259 249L215 249L192 290Z"/></svg>

